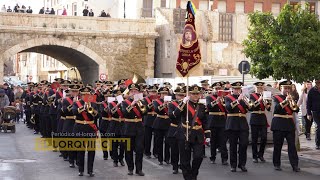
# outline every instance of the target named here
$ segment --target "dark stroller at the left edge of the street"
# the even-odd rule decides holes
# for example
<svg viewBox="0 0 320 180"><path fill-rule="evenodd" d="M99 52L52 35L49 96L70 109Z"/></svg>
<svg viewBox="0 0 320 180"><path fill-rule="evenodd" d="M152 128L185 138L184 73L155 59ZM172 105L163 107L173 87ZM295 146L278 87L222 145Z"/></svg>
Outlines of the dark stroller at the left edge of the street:
<svg viewBox="0 0 320 180"><path fill-rule="evenodd" d="M12 133L16 132L15 119L17 116L17 109L14 106L7 106L2 110L2 130L7 133L10 130Z"/></svg>

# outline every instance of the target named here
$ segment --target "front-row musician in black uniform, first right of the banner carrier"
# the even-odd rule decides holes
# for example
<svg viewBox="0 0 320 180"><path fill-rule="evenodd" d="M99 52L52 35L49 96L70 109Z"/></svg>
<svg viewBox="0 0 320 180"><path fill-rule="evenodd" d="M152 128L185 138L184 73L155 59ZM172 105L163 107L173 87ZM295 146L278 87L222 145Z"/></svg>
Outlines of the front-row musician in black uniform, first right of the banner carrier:
<svg viewBox="0 0 320 180"><path fill-rule="evenodd" d="M247 97L241 94L242 82L232 83L232 94L225 97L227 109L226 131L230 143L231 172L236 172L237 153L239 153L238 168L247 172L247 147L249 144L249 125L246 113L250 108ZM239 144L239 148L238 148Z"/></svg>

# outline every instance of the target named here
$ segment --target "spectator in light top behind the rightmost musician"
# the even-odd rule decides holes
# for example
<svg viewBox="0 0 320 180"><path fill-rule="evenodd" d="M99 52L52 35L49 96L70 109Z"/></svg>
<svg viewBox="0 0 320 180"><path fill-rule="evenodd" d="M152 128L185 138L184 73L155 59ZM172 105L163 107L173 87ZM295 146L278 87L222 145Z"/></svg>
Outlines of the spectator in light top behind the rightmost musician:
<svg viewBox="0 0 320 180"><path fill-rule="evenodd" d="M311 136L310 136L310 131L311 131L311 126L313 123L313 120L308 120L307 119L307 97L308 97L308 93L310 91L310 89L312 88L312 82L311 81L307 81L304 83L304 87L302 88L302 93L301 96L299 98L298 101L298 106L301 109L301 113L302 113L302 125L305 129L305 135L308 141L311 140Z"/></svg>

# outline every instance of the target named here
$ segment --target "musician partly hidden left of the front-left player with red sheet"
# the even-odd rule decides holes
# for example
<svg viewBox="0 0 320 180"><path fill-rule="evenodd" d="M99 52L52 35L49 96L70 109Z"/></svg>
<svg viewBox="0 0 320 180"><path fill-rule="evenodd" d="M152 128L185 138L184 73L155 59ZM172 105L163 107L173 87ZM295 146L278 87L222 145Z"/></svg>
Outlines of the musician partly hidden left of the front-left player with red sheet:
<svg viewBox="0 0 320 180"><path fill-rule="evenodd" d="M75 123L75 116L72 112L73 103L78 101L79 98L79 85L71 85L70 90L66 90L66 97L62 100L62 109L61 113L64 114L65 120L62 127L62 132L67 134L67 138L74 138L73 127ZM74 163L77 158L76 151L67 151L67 157L69 160L69 167L74 168Z"/></svg>

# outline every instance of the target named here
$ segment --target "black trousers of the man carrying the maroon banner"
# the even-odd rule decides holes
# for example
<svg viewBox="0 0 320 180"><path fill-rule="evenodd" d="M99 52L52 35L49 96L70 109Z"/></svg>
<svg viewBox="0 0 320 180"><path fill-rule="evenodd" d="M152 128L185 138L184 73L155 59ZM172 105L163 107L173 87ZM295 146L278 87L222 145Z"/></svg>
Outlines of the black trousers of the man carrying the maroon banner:
<svg viewBox="0 0 320 180"><path fill-rule="evenodd" d="M185 180L191 180L198 176L199 168L203 160L203 144L188 143L185 140L179 140L180 163ZM193 159L191 163L191 151Z"/></svg>

